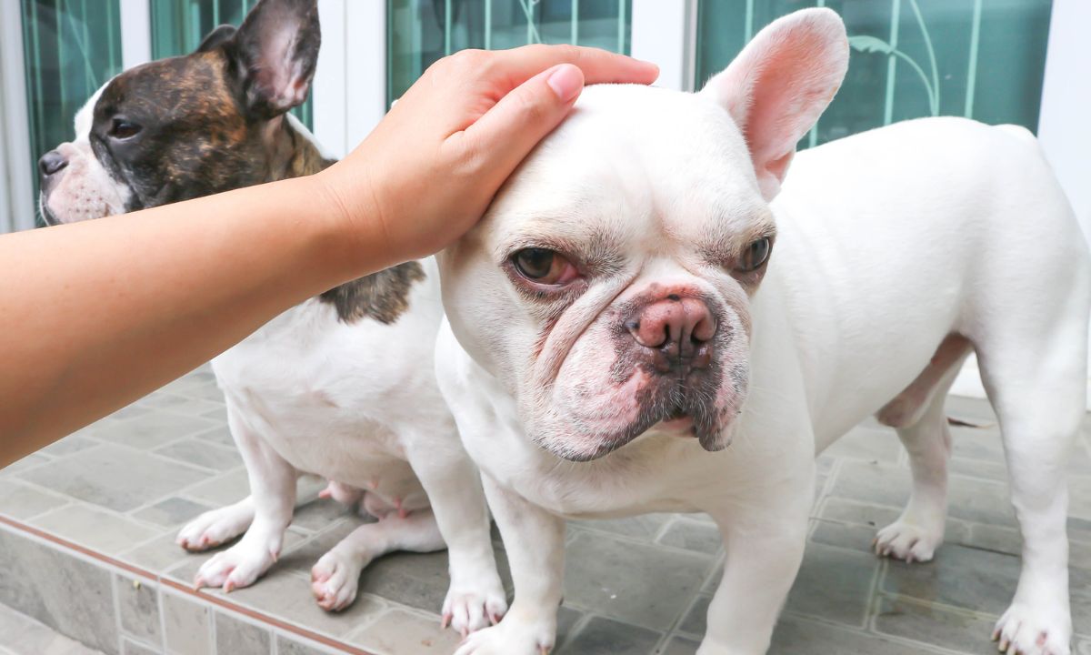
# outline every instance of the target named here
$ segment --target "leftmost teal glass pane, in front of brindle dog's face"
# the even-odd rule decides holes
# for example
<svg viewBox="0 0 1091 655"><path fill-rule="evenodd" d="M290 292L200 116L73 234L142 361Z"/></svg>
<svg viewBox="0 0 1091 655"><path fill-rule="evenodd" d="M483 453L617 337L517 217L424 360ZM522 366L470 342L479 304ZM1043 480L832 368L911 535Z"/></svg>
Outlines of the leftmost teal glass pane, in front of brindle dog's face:
<svg viewBox="0 0 1091 655"><path fill-rule="evenodd" d="M41 154L72 140L72 119L87 98L120 72L121 23L118 0L23 0L22 12L27 165L36 170Z"/></svg>

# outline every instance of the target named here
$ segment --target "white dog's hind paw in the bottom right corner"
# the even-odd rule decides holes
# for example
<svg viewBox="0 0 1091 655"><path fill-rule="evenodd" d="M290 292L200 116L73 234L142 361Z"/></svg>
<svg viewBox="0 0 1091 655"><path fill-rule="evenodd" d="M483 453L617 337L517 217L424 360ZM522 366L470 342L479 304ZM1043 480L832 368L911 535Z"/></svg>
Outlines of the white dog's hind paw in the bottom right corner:
<svg viewBox="0 0 1091 655"><path fill-rule="evenodd" d="M1006 655L1070 655L1071 618L1057 603L1011 604L993 630Z"/></svg>

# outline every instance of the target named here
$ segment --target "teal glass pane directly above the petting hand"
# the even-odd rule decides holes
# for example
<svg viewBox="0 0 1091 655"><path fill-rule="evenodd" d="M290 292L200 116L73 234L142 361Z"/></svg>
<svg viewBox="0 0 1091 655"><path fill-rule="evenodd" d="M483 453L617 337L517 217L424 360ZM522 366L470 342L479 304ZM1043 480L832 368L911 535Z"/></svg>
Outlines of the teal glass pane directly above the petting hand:
<svg viewBox="0 0 1091 655"><path fill-rule="evenodd" d="M387 0L386 102L466 48L578 44L630 51L632 0Z"/></svg>

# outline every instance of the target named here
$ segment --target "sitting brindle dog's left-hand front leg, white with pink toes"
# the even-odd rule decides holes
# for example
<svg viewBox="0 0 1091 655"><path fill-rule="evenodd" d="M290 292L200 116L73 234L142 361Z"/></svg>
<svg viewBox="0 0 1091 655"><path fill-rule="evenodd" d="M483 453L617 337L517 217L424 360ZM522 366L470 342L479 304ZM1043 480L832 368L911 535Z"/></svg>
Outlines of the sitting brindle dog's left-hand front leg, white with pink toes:
<svg viewBox="0 0 1091 655"><path fill-rule="evenodd" d="M223 586L224 592L249 586L280 557L284 532L296 507L296 469L239 418L227 404L227 422L247 465L253 522L238 544L202 564L193 585Z"/></svg>

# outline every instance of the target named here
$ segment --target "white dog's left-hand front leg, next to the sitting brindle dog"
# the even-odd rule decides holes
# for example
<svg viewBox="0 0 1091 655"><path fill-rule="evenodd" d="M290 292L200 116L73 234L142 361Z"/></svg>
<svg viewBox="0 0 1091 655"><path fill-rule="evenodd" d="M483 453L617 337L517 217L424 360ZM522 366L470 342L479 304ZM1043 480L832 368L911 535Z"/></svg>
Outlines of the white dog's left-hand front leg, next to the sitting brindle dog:
<svg viewBox="0 0 1091 655"><path fill-rule="evenodd" d="M556 639L564 575L564 520L482 475L515 582L499 626L475 632L455 655L543 655Z"/></svg>

